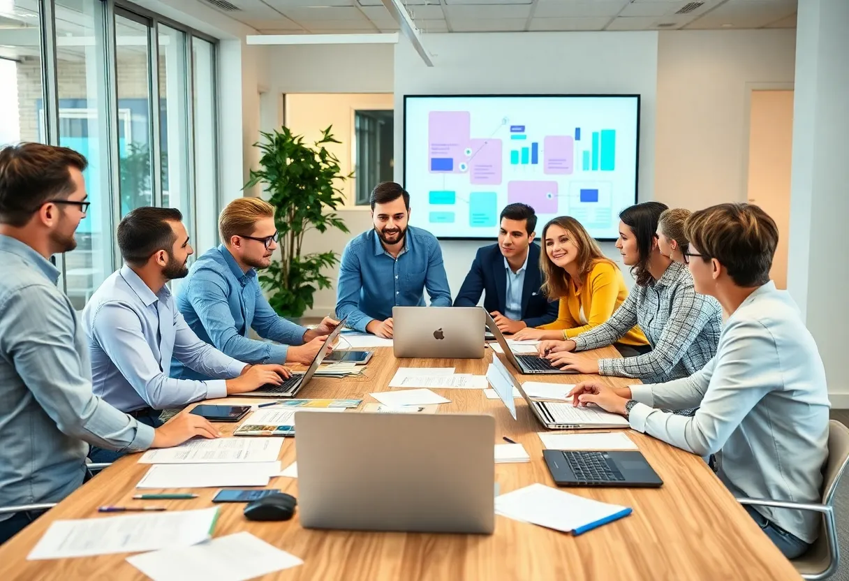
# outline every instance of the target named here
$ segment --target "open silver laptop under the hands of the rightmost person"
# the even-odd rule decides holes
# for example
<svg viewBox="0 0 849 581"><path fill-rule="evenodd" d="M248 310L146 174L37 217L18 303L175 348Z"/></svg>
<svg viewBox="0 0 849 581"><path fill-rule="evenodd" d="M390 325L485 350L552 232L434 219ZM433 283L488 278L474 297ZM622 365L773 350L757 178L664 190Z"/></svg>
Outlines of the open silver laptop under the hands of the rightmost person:
<svg viewBox="0 0 849 581"><path fill-rule="evenodd" d="M504 353L509 353L504 351ZM528 403L531 413L549 430L573 430L589 428L627 428L628 420L621 415L610 414L595 406L576 408L571 402L550 402L528 398L525 390L516 381L509 369L503 366L498 355L492 355L492 373L486 374L486 379L498 393L498 397L507 406L510 414L516 418L513 388L515 387Z"/></svg>

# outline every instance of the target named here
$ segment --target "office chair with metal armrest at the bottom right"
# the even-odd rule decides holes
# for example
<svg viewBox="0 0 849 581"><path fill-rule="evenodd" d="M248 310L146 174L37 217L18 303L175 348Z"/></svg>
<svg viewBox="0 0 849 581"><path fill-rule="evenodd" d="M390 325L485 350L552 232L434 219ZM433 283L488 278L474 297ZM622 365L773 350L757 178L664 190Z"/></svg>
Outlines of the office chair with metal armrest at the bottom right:
<svg viewBox="0 0 849 581"><path fill-rule="evenodd" d="M799 502L782 502L769 499L738 499L741 505L774 506L796 510L816 510L823 515L819 537L811 548L790 562L802 578L819 581L836 573L841 563L841 550L837 544L835 510L832 506L837 483L840 482L849 461L849 428L837 420L829 421L829 459L823 466L823 504L808 505Z"/></svg>

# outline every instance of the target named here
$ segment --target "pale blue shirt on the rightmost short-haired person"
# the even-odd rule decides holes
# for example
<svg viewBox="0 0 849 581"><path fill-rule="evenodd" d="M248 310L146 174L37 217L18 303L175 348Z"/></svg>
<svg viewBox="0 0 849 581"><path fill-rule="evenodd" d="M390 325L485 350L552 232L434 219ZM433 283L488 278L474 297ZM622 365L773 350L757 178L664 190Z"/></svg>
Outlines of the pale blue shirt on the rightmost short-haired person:
<svg viewBox="0 0 849 581"><path fill-rule="evenodd" d="M707 456L722 451L718 475L735 496L819 503L829 448L823 360L796 303L773 282L728 317L717 355L689 377L631 386L628 420L638 432ZM693 417L661 409L699 406ZM812 510L754 507L806 543Z"/></svg>

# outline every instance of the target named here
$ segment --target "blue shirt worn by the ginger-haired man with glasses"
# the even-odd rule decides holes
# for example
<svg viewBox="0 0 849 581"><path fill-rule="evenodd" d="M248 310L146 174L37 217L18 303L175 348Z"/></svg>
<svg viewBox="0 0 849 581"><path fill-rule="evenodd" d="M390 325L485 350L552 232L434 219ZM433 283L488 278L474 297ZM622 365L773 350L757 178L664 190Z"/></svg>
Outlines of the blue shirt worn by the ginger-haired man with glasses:
<svg viewBox="0 0 849 581"><path fill-rule="evenodd" d="M177 291L177 308L200 339L245 363L283 364L288 345L304 342L306 327L274 312L262 294L256 270L243 272L225 245L194 262ZM285 345L248 339L250 329ZM203 379L176 359L171 377Z"/></svg>

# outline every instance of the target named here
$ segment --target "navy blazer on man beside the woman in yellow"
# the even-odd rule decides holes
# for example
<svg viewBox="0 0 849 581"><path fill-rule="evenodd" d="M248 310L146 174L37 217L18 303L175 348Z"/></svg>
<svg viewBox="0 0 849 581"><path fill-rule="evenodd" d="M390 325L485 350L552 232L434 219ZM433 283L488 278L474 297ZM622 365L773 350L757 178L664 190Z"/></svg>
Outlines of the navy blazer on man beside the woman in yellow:
<svg viewBox="0 0 849 581"><path fill-rule="evenodd" d="M539 269L537 244L528 246L528 264L525 271L525 285L522 287L522 320L529 327L551 323L557 319L558 301L549 302L540 291L543 285L543 273ZM498 244L478 249L475 261L463 286L454 299L454 307L476 307L481 300L481 292L486 296L483 307L488 313L498 311L504 314L507 301L507 274L504 273L504 257Z"/></svg>

